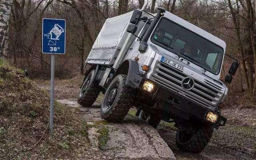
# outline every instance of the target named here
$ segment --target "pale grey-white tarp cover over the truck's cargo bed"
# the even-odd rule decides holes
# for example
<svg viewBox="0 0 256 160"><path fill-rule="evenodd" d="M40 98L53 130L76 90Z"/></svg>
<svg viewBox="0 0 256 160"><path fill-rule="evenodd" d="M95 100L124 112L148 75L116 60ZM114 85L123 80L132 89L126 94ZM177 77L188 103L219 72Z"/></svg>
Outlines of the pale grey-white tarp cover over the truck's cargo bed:
<svg viewBox="0 0 256 160"><path fill-rule="evenodd" d="M106 22L102 26L100 33L92 46L92 49L112 48L116 46L120 47L118 44L120 41L125 40L125 36L122 35L125 34L124 30L126 30L128 24L130 23L129 19L132 13L133 11L106 19Z"/></svg>

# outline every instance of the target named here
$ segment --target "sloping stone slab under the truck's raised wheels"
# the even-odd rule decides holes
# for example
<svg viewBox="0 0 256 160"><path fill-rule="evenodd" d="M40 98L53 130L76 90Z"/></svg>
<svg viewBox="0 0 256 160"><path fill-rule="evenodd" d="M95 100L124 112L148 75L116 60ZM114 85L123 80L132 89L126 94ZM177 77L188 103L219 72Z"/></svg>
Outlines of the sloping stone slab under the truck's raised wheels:
<svg viewBox="0 0 256 160"><path fill-rule="evenodd" d="M98 148L99 126L108 128L109 140L102 152L106 158L122 160L175 160L172 150L160 137L158 131L137 117L128 114L121 123L107 123L100 116L100 108L95 103L92 108L84 108L76 100L58 100L67 106L78 108L83 120L91 127L88 138L95 150Z"/></svg>

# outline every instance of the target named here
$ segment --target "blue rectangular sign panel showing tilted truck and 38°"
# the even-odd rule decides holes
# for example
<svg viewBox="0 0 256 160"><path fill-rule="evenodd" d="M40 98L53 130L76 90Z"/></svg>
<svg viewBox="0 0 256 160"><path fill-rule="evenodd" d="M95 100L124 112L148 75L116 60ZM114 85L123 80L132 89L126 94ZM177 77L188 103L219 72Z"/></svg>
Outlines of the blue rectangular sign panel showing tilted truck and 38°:
<svg viewBox="0 0 256 160"><path fill-rule="evenodd" d="M42 52L65 54L66 21L44 18L42 26Z"/></svg>

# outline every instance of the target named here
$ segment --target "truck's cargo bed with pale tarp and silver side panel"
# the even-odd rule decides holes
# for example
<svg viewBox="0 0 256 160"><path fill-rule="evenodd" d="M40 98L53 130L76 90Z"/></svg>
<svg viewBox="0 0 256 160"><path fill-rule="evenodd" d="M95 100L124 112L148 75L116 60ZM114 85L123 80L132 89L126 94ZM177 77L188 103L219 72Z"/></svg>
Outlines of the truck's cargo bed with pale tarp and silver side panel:
<svg viewBox="0 0 256 160"><path fill-rule="evenodd" d="M132 13L133 11L106 20L87 57L87 63L114 64L128 36L126 29Z"/></svg>

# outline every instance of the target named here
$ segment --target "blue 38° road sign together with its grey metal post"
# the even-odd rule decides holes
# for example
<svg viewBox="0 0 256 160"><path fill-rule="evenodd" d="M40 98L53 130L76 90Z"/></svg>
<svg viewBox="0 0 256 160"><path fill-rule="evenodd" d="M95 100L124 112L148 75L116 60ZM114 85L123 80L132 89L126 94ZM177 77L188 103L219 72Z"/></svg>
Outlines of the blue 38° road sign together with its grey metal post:
<svg viewBox="0 0 256 160"><path fill-rule="evenodd" d="M50 86L50 134L53 133L54 116L54 71L55 54L65 54L66 21L60 19L43 19L42 53L51 54L51 86Z"/></svg>

